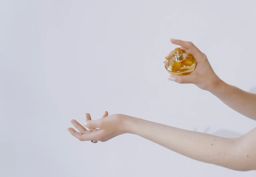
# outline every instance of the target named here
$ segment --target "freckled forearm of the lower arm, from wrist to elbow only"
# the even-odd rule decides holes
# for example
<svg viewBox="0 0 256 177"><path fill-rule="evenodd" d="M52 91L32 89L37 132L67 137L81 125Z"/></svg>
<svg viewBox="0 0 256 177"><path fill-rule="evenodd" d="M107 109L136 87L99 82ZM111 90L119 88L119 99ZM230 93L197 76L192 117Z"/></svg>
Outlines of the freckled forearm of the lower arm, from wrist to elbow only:
<svg viewBox="0 0 256 177"><path fill-rule="evenodd" d="M127 132L137 134L187 157L242 170L237 159L236 139L223 138L170 127L138 118L127 123Z"/></svg>

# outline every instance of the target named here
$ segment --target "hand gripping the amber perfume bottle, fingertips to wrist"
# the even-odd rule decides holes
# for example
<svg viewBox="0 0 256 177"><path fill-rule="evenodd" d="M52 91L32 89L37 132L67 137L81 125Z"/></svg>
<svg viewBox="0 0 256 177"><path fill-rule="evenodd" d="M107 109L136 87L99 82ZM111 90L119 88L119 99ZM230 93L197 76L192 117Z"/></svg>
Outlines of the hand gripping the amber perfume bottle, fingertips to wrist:
<svg viewBox="0 0 256 177"><path fill-rule="evenodd" d="M193 54L197 60L197 66L192 74L185 76L171 75L168 78L169 80L178 82L180 84L195 84L199 88L208 91L214 89L221 82L221 79L212 69L206 55L201 52L192 42L171 39L171 43L180 45L180 49L183 52ZM165 58L167 60L171 59L174 53L175 50L171 51Z"/></svg>

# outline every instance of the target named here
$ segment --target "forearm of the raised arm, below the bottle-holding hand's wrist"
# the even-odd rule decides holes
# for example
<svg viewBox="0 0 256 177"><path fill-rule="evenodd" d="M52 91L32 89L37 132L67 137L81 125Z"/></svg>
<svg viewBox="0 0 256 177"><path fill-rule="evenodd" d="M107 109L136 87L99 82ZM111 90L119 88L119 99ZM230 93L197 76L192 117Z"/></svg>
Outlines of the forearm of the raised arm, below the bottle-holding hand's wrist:
<svg viewBox="0 0 256 177"><path fill-rule="evenodd" d="M223 81L210 92L231 109L256 120L256 94L245 92Z"/></svg>

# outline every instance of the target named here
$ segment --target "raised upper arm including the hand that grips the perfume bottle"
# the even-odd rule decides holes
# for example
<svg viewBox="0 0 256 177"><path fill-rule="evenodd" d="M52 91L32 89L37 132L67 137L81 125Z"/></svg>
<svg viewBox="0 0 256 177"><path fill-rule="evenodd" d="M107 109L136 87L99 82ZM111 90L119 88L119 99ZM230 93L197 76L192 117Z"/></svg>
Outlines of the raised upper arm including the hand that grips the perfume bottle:
<svg viewBox="0 0 256 177"><path fill-rule="evenodd" d="M169 80L178 83L192 83L217 96L223 103L240 114L256 120L256 94L245 92L222 81L212 69L206 55L191 42L171 39L173 44L181 45L186 53L192 53L197 60L195 71L187 76L172 75ZM170 59L174 51L165 58Z"/></svg>

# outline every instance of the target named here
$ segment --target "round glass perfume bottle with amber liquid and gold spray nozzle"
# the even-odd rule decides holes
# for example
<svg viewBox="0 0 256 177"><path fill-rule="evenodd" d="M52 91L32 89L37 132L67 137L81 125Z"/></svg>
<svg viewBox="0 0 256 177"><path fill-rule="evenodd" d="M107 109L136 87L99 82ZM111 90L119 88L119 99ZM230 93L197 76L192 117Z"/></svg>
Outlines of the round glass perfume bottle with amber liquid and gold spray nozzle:
<svg viewBox="0 0 256 177"><path fill-rule="evenodd" d="M188 75L196 68L196 59L192 54L183 53L180 48L175 48L175 54L165 62L165 68L171 75Z"/></svg>

